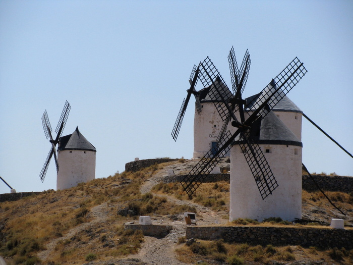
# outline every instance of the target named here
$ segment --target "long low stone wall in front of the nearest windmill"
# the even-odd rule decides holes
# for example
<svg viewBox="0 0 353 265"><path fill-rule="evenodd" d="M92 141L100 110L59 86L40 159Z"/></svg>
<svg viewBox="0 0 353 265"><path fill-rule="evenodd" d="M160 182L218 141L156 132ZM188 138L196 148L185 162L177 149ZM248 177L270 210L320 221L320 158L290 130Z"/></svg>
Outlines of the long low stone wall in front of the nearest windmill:
<svg viewBox="0 0 353 265"><path fill-rule="evenodd" d="M251 245L301 245L303 247L344 247L353 249L353 230L331 228L188 226L186 238L201 240L224 239L226 242L248 243Z"/></svg>

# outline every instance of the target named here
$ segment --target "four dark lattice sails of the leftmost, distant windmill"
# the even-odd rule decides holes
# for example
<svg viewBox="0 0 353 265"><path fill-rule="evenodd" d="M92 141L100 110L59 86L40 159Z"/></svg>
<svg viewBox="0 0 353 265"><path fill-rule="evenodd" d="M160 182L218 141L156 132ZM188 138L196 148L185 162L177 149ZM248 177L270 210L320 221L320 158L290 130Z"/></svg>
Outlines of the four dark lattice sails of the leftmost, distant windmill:
<svg viewBox="0 0 353 265"><path fill-rule="evenodd" d="M57 123L56 129L55 129L55 132L56 132L55 139L52 137L52 134L51 134L52 129L51 129L51 125L50 125L48 114L47 114L46 110L42 116L42 124L43 124L44 134L45 134L46 139L49 139L49 142L51 144L48 156L46 157L46 161L44 163L44 166L39 174L40 180L42 182L44 181L45 174L48 170L48 166L49 166L51 157L53 155L54 155L54 161L55 161L55 165L56 165L56 173L58 173L58 171L59 171L59 164L57 163L55 146L59 142L59 138L63 134L64 127L66 125L66 121L68 120L68 117L69 117L70 109L71 109L71 105L66 100L62 115L61 115L59 122Z"/></svg>

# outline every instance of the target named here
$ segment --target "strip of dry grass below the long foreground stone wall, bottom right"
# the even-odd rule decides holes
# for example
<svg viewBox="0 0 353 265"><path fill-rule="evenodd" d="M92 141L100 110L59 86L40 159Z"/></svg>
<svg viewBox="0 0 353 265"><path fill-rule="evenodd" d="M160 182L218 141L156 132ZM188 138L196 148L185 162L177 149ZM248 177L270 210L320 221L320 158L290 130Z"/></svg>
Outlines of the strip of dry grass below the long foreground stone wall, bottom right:
<svg viewBox="0 0 353 265"><path fill-rule="evenodd" d="M272 264L273 261L290 262L294 260L320 261L320 263L351 264L353 250L331 249L319 250L313 247L272 245L228 244L221 240L198 240L190 246L186 244L177 249L178 259L191 263L195 260L204 260L204 264L222 262L226 264Z"/></svg>

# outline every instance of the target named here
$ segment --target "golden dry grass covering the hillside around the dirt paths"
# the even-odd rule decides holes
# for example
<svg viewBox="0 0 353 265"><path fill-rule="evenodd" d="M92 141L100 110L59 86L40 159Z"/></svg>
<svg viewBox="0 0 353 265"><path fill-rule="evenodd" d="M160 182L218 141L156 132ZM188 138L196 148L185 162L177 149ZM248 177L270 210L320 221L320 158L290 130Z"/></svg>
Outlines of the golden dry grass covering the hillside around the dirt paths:
<svg viewBox="0 0 353 265"><path fill-rule="evenodd" d="M182 162L179 162L182 163ZM136 232L124 232L122 224L128 217L117 215L117 210L129 207L136 210L136 214L180 214L185 211L196 212L195 208L186 205L175 205L168 202L163 196L153 196L151 193L142 195L141 184L163 165L153 165L136 173L115 173L103 179L96 179L77 187L53 191L48 190L36 196L25 197L18 201L0 203L0 255L10 257L8 263L12 264L39 264L40 260L35 256L45 249L47 244L54 239L58 240L54 251L49 255L45 263L86 263L95 259L107 260L109 257L119 257L136 253L142 242L142 235ZM179 183L159 184L153 188L153 192L161 195L167 194L179 199L189 199ZM352 195L340 192L327 192L333 201L346 210L352 210ZM229 209L229 183L204 183L197 190L192 200L213 210ZM303 202L315 207L332 209L320 193L308 193L303 191ZM92 208L105 204L108 212L107 219L103 223L89 224L93 220ZM248 223L251 223L248 221ZM85 229L78 230L73 237L64 237L68 231L86 225ZM233 224L232 224L233 225ZM254 224L249 224L254 225ZM269 223L259 224L269 226ZM277 225L277 224L275 224ZM132 234L129 234L132 233ZM200 243L201 244L201 243ZM202 247L193 250L190 247L181 246L178 250L180 257L194 262L195 257L207 257L213 260L230 262L228 257L234 256L232 262L244 260L261 260L267 262L266 249L248 248L247 254L237 258L240 246L228 245L223 242L204 242L206 252ZM226 250L221 250L222 247ZM244 246L243 246L244 247ZM250 250L249 250L250 249ZM297 258L299 252L296 248L292 252ZM199 251L199 253L194 252ZM316 254L346 262L351 252L344 249L332 249L320 251L314 248L304 249L306 255ZM265 254L263 254L263 252ZM275 253L285 252L276 248ZM288 252L288 251L287 251ZM225 258L225 255L227 259ZM240 255L240 254L239 254ZM257 256L256 256L257 255ZM274 258L275 254L271 256ZM289 258L290 254L283 254L275 260ZM238 261L237 261L238 260Z"/></svg>

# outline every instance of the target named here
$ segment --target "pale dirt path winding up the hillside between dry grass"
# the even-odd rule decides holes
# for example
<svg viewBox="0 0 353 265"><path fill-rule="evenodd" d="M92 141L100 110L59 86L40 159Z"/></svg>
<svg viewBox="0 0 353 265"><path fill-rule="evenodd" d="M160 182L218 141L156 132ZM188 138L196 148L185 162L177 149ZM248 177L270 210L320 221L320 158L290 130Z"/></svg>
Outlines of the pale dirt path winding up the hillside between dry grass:
<svg viewBox="0 0 353 265"><path fill-rule="evenodd" d="M146 180L140 188L141 193L151 192L151 189L156 184L163 181L163 177L167 175L168 169L173 169L175 171L188 171L190 168L195 165L196 162L188 161L184 165L175 166L174 164L170 164L165 166L162 170L156 171L155 174L151 176L148 180ZM220 219L223 213L215 213L208 207L201 206L199 204L193 203L188 200L180 200L174 198L169 195L159 195L153 193L153 196L163 196L167 198L168 201L173 202L174 204L186 204L190 206L194 206L197 209L197 224L198 225L206 225L206 224L214 224L214 223L226 223L227 220ZM91 221L88 223L83 223L79 226L76 226L68 231L63 237L55 238L50 241L46 245L46 249L38 253L38 257L41 260L48 260L52 253L54 253L55 246L59 241L70 240L75 235L80 232L87 230L90 226L97 223L104 223L108 218L108 208L107 203L103 202L100 205L94 206L90 210L89 217ZM226 213L224 213L226 214ZM129 255L126 258L117 258L114 260L109 260L109 262L113 262L114 264L122 264L122 265L150 265L150 264L175 264L175 265L184 265L186 263L181 262L177 259L177 255L174 253L175 248L178 247L178 240L180 237L185 236L186 233L186 223L183 221L173 221L169 220L166 217L162 217L163 224L171 225L173 228L170 233L164 238L155 238L145 236L144 243L142 244L142 248L140 249L138 254ZM157 221L153 221L155 223ZM159 221L158 221L159 223ZM106 261L93 261L89 264L106 264Z"/></svg>

